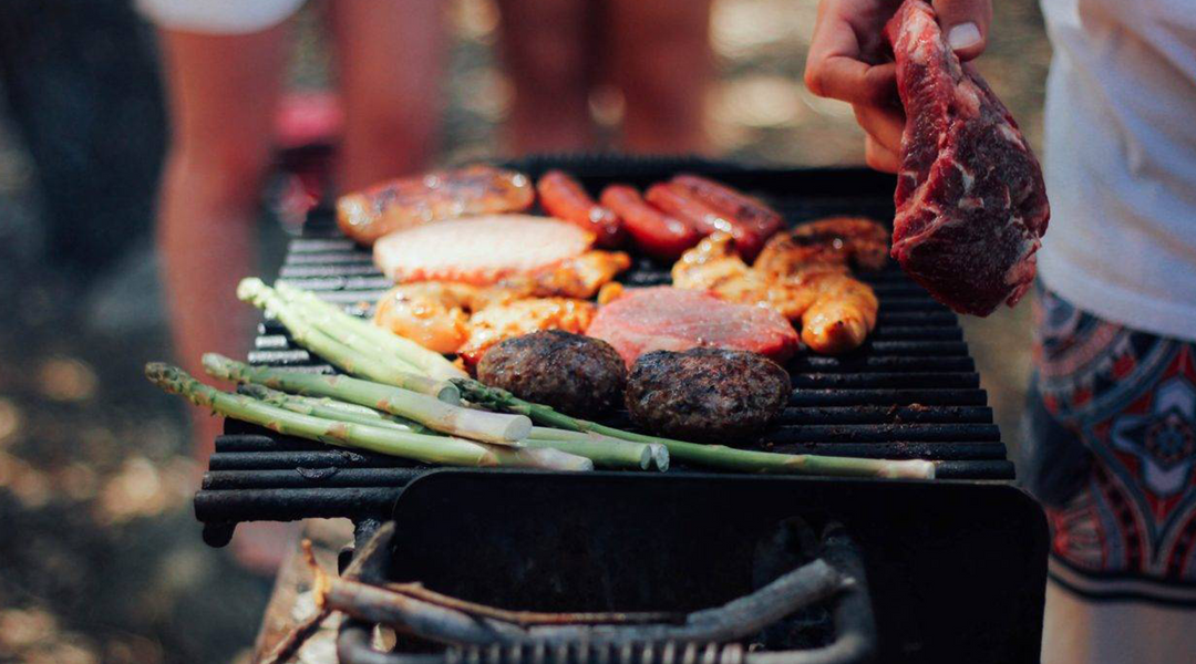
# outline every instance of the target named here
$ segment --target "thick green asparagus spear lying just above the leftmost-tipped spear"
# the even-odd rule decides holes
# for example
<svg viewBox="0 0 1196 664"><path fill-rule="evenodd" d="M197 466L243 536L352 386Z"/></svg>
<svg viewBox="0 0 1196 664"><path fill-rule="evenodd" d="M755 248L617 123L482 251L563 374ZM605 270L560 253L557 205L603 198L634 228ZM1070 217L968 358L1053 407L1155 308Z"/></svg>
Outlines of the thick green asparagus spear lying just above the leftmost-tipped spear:
<svg viewBox="0 0 1196 664"><path fill-rule="evenodd" d="M263 385L294 394L331 396L413 419L428 429L475 441L511 445L527 437L531 420L523 414L501 414L445 404L399 387L349 376L322 376L250 367L222 355L205 353L203 368L214 377Z"/></svg>

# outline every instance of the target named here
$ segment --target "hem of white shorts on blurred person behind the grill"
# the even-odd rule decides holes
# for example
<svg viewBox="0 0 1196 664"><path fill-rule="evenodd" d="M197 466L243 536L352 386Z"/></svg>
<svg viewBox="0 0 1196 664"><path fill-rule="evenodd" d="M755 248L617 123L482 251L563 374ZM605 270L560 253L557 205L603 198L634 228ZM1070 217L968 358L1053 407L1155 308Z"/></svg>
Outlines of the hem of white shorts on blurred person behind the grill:
<svg viewBox="0 0 1196 664"><path fill-rule="evenodd" d="M305 0L136 0L141 13L165 30L248 35L274 27Z"/></svg>

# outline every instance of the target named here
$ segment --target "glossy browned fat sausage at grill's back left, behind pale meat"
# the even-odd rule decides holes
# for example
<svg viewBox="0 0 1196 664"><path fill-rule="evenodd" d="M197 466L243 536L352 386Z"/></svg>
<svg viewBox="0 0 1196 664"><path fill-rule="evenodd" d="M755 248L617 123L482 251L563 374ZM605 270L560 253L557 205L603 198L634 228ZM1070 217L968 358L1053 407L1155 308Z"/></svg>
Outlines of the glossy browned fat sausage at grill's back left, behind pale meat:
<svg viewBox="0 0 1196 664"><path fill-rule="evenodd" d="M392 230L428 221L526 210L535 197L521 173L468 166L344 195L336 202L336 221L346 235L371 245Z"/></svg>

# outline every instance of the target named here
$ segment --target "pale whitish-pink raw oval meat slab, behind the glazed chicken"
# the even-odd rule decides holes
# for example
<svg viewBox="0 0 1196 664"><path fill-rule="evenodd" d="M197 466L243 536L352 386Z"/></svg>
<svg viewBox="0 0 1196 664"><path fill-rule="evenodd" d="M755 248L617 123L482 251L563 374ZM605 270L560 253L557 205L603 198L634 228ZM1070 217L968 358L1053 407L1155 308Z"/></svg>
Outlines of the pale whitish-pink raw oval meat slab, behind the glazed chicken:
<svg viewBox="0 0 1196 664"><path fill-rule="evenodd" d="M374 264L396 282L489 285L550 268L590 248L572 223L530 215L486 215L396 230L374 242Z"/></svg>

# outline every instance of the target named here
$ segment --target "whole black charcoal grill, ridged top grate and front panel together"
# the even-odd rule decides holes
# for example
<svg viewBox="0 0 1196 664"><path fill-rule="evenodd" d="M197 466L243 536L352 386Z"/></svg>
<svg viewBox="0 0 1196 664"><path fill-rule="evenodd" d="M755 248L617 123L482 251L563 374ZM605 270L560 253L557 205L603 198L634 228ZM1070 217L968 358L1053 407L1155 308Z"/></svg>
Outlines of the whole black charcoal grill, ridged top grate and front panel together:
<svg viewBox="0 0 1196 664"><path fill-rule="evenodd" d="M591 189L611 182L642 187L678 171L703 173L767 198L789 223L832 214L893 216L893 179L859 168L758 170L626 158L537 158L511 166L533 177L562 167ZM279 277L360 313L390 285L370 253L336 230L328 210L310 215ZM864 551L881 660L1037 662L1045 522L1012 484L1014 468L957 316L895 265L861 278L880 299L868 342L842 357L800 351L788 364L794 392L780 424L757 441L728 443L783 453L928 459L935 463L934 481L751 478L685 467L666 474L568 478L446 471L228 420L195 497L205 540L224 546L245 521L348 517L362 535L393 517L399 537L388 573L395 579L417 579L512 608L691 609L750 588L744 542L761 541L795 515L834 518L848 525ZM664 284L667 266L636 257L620 281ZM249 359L332 371L273 320L260 325ZM627 426L626 414L614 416L611 424ZM584 564L573 564L579 552ZM657 573L629 567L618 552L651 561ZM665 568L655 566L659 560L672 562ZM520 561L559 568L547 576L555 585L508 573ZM471 572L482 568L489 574ZM584 579L605 580L586 586ZM654 595L642 595L645 588ZM361 641L360 631L342 637ZM471 664L539 664L509 652L457 654ZM621 664L685 664L665 660L658 651L649 654ZM551 664L585 664L588 658L581 651L562 657ZM384 660L390 662L362 659ZM703 662L724 664L714 654Z"/></svg>

